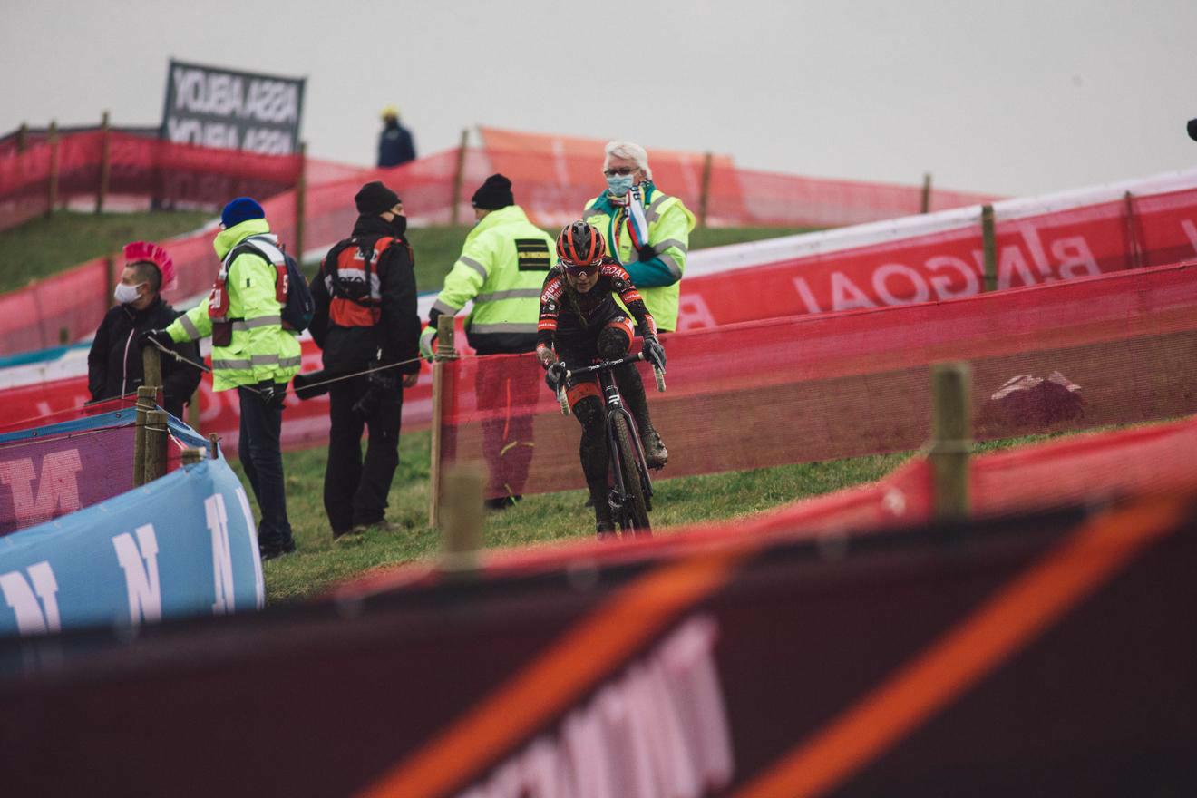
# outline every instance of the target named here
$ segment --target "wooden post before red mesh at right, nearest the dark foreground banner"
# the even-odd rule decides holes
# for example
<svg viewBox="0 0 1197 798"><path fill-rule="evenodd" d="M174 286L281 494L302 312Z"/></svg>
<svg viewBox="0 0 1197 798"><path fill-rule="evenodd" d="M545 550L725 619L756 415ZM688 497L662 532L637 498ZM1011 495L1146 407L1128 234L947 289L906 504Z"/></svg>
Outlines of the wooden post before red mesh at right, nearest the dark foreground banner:
<svg viewBox="0 0 1197 798"><path fill-rule="evenodd" d="M972 452L972 366L966 361L931 366L931 489L937 520L968 518Z"/></svg>

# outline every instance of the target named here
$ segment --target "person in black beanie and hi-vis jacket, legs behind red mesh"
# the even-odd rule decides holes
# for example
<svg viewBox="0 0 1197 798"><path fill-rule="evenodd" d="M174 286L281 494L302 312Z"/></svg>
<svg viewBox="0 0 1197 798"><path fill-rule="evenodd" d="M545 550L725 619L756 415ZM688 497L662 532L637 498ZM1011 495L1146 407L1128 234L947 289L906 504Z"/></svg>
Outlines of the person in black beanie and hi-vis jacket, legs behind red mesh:
<svg viewBox="0 0 1197 798"><path fill-rule="evenodd" d="M461 256L445 276L429 312L420 351L432 357L437 318L456 316L466 303L466 336L480 355L519 354L536 349L540 290L553 266L553 238L528 221L515 203L511 181L491 175L474 193L478 224L466 236ZM510 358L480 358L475 394L482 421L482 452L490 469L488 507L500 510L519 500L533 456L531 404L536 401L536 368L521 368Z"/></svg>

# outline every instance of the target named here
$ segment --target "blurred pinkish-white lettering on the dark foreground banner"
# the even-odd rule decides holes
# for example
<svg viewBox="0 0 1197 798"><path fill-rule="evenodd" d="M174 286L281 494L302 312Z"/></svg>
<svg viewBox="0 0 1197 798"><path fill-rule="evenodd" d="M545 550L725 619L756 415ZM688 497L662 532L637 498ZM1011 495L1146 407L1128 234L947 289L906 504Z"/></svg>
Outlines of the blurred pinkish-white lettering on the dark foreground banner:
<svg viewBox="0 0 1197 798"><path fill-rule="evenodd" d="M682 623L619 681L458 798L698 798L734 772L718 627Z"/></svg>

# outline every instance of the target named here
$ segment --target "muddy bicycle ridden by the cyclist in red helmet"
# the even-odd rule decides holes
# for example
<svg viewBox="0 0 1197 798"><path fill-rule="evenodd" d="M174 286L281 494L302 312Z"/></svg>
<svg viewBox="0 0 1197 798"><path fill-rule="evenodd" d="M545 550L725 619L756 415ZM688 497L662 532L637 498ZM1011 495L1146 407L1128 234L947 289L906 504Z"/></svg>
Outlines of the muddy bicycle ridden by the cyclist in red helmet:
<svg viewBox="0 0 1197 798"><path fill-rule="evenodd" d="M596 374L598 378L609 462L610 489L607 493L607 501L610 505L612 519L619 524L624 537L651 534L649 512L652 511L652 479L649 476L649 467L644 461L640 431L636 426L636 419L624 406L624 397L620 396L619 386L615 384L613 370L646 359L642 352L618 360L601 360L581 368L571 368L569 364L563 361L565 379L557 389L557 401L561 406L561 414L569 415L570 403L565 396L565 388L570 380L582 374ZM654 364L652 373L657 380L657 390L664 391L664 371Z"/></svg>

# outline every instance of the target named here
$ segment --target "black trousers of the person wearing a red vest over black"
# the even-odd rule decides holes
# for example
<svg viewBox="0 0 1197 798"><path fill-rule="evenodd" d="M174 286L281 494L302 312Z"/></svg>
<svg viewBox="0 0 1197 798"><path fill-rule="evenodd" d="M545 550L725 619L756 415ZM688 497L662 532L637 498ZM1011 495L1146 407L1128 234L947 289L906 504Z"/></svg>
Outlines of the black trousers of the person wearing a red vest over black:
<svg viewBox="0 0 1197 798"><path fill-rule="evenodd" d="M353 406L371 384L365 376L329 386L328 465L324 469L324 512L334 534L377 524L387 513L387 494L399 467L399 426L403 391L376 388L377 403L361 415ZM369 430L365 462L361 433Z"/></svg>

